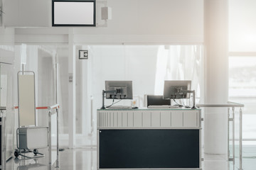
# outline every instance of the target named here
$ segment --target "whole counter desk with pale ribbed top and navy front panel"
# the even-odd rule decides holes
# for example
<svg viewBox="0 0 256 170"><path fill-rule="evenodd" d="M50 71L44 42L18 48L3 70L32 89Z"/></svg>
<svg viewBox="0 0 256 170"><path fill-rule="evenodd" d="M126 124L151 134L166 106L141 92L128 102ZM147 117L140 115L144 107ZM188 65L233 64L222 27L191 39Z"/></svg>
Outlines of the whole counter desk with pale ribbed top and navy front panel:
<svg viewBox="0 0 256 170"><path fill-rule="evenodd" d="M201 109L97 110L97 169L201 169Z"/></svg>

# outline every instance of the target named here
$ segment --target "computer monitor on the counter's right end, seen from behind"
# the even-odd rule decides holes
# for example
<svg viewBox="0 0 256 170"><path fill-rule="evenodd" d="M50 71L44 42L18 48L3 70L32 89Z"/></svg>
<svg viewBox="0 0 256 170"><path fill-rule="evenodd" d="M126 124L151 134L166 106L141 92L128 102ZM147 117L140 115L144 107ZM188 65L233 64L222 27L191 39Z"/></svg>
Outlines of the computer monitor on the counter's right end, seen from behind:
<svg viewBox="0 0 256 170"><path fill-rule="evenodd" d="M164 81L164 98L190 98L191 80Z"/></svg>

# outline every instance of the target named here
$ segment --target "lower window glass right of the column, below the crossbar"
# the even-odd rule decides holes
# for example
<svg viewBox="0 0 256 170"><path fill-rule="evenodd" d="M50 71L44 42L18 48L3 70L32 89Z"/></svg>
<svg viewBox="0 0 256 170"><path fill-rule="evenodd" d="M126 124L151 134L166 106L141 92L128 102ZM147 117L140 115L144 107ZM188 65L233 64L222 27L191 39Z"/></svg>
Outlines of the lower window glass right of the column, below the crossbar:
<svg viewBox="0 0 256 170"><path fill-rule="evenodd" d="M243 149L243 168L250 169L250 162L255 157L256 145L256 56L230 56L229 57L229 100L245 104L242 111L242 149ZM235 111L238 118L239 111ZM238 119L235 119L237 126ZM235 129L235 132L239 132ZM238 136L235 136L235 165L238 168Z"/></svg>

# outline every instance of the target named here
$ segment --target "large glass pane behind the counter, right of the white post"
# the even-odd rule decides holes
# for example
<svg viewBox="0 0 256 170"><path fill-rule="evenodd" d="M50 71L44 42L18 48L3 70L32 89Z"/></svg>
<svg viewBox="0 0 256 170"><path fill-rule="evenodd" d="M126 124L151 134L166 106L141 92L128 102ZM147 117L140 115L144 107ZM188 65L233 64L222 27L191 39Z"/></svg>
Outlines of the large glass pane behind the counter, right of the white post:
<svg viewBox="0 0 256 170"><path fill-rule="evenodd" d="M88 50L88 59L79 60L78 50ZM163 95L164 80L192 80L197 102L203 98L202 45L78 45L75 52L76 146L96 146L106 80L132 81L133 99L117 105L144 107L145 94ZM106 106L111 103L105 99Z"/></svg>

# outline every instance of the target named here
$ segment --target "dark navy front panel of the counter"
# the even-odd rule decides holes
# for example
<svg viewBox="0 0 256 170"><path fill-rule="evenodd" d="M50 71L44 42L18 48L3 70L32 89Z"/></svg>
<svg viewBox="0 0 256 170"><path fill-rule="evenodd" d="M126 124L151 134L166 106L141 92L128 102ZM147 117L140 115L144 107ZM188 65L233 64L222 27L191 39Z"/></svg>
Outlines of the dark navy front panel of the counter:
<svg viewBox="0 0 256 170"><path fill-rule="evenodd" d="M99 137L100 169L200 166L199 130L100 130Z"/></svg>

